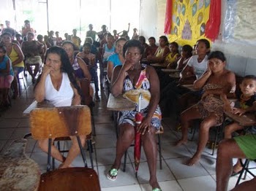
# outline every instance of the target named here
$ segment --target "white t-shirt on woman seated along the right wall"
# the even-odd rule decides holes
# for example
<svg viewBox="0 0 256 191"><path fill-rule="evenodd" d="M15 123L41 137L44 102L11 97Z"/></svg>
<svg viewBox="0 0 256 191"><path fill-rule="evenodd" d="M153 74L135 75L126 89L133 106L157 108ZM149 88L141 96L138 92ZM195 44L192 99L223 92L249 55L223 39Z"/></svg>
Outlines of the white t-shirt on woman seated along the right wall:
<svg viewBox="0 0 256 191"><path fill-rule="evenodd" d="M187 65L192 67L195 72L195 77L200 78L204 71L207 69L207 63L208 63L208 55L206 55L205 58L203 58L203 61L198 63L197 61L198 55L192 55L192 57L189 59Z"/></svg>

